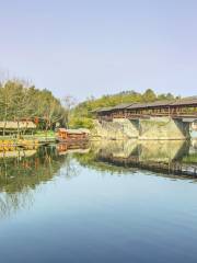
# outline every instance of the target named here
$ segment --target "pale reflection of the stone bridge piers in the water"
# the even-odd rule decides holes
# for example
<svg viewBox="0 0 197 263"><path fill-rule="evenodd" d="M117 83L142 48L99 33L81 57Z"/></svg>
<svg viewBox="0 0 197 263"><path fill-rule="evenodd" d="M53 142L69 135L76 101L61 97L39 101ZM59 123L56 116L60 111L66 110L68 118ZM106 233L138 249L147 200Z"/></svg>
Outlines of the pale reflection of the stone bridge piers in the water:
<svg viewBox="0 0 197 263"><path fill-rule="evenodd" d="M169 162L178 159L188 147L184 140L101 140L92 147L102 155L127 159L138 156L140 161Z"/></svg>

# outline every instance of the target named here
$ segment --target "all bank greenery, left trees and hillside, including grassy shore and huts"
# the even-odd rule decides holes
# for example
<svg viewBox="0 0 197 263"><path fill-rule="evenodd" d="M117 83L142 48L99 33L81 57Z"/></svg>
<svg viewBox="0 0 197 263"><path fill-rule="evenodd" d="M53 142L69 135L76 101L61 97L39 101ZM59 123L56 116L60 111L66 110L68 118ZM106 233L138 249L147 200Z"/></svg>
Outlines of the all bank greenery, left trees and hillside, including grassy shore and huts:
<svg viewBox="0 0 197 263"><path fill-rule="evenodd" d="M148 89L143 93L131 90L103 95L99 99L91 96L77 104L74 98L70 95L57 99L47 89L36 89L35 85L19 79L1 81L0 141L24 139L40 144L54 142L56 141L55 132L58 127L92 129L92 112L97 108L121 103L148 103L175 99L179 99L179 96L171 93L157 94L153 90ZM30 128L31 125L32 128Z"/></svg>

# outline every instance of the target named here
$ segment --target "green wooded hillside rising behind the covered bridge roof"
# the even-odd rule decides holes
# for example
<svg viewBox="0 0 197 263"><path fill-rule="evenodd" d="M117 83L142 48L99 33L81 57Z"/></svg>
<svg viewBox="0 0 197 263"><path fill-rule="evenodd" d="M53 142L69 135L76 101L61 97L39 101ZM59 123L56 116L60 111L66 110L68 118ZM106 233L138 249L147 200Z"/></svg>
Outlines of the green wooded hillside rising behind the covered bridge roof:
<svg viewBox="0 0 197 263"><path fill-rule="evenodd" d="M113 95L103 95L100 99L90 98L86 101L78 104L73 111L70 118L70 126L72 127L86 127L92 128L92 111L101 107L111 107L121 103L132 103L132 102L154 102L163 100L174 100L177 99L173 94L155 94L154 91L148 89L144 93L139 93L135 91L123 91Z"/></svg>

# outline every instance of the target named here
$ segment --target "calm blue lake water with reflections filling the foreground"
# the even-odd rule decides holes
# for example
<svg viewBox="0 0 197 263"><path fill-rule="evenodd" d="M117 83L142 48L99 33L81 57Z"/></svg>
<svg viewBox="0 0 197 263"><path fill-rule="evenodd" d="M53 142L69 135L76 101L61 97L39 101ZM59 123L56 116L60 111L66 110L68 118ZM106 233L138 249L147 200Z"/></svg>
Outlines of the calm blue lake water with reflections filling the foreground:
<svg viewBox="0 0 197 263"><path fill-rule="evenodd" d="M102 141L1 156L0 262L196 263L197 180L165 169L195 168L196 145Z"/></svg>

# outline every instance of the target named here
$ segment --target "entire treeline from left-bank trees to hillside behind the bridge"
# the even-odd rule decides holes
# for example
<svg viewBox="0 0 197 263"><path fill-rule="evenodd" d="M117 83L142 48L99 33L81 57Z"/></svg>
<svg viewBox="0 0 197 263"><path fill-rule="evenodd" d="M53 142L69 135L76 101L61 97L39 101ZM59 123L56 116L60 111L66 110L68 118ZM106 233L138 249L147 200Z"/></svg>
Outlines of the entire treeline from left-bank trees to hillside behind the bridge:
<svg viewBox="0 0 197 263"><path fill-rule="evenodd" d="M20 80L0 82L0 121L32 119L37 122L39 129L61 127L92 128L92 111L101 107L115 106L120 103L153 102L176 99L171 93L155 94L151 89L144 93L124 91L100 99L89 98L76 105L72 96L56 99L46 89L38 90Z"/></svg>

